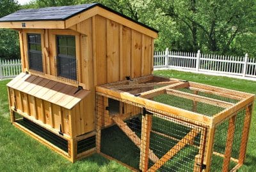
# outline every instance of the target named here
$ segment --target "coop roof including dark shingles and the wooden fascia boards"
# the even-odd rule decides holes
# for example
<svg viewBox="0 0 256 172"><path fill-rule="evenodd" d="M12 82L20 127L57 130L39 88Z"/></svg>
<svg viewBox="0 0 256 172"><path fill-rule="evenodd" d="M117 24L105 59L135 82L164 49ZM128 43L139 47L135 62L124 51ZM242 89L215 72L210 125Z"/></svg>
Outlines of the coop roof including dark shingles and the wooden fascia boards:
<svg viewBox="0 0 256 172"><path fill-rule="evenodd" d="M132 20L100 3L24 9L0 18L0 28L12 29L68 29L95 15L109 18L132 29L157 38L157 30Z"/></svg>

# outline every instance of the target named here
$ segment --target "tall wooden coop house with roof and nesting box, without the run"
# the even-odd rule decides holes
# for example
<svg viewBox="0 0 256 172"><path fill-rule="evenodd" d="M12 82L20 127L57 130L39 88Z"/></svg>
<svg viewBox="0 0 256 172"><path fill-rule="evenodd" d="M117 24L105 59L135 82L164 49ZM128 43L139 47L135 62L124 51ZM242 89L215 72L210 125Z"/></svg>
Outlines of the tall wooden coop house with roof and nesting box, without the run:
<svg viewBox="0 0 256 172"><path fill-rule="evenodd" d="M19 10L0 27L20 38L13 125L72 162L95 152L95 85L153 71L157 31L101 4Z"/></svg>

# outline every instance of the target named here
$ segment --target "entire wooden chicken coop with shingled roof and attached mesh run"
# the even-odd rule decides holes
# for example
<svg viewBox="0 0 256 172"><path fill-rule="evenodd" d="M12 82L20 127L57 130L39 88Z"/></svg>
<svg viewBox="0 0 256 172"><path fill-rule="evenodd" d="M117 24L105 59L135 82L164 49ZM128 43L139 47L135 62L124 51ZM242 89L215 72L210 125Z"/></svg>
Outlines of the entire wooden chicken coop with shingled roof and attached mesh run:
<svg viewBox="0 0 256 172"><path fill-rule="evenodd" d="M102 4L19 10L12 124L74 162L229 171L244 162L254 95L152 75L157 31Z"/></svg>

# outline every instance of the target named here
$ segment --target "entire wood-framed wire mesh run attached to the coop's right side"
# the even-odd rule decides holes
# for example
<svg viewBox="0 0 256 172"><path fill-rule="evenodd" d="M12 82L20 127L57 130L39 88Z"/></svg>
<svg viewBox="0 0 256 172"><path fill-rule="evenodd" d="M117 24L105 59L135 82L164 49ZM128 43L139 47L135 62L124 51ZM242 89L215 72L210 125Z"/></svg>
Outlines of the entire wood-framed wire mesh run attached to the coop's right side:
<svg viewBox="0 0 256 172"><path fill-rule="evenodd" d="M99 90L97 150L125 166L229 171L243 164L252 94L151 75Z"/></svg>

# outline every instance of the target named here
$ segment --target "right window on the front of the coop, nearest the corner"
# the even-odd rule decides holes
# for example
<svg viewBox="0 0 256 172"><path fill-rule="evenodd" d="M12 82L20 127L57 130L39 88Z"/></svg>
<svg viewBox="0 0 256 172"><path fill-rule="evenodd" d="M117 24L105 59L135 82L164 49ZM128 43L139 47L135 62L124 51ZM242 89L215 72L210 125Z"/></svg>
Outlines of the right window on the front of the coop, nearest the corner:
<svg viewBox="0 0 256 172"><path fill-rule="evenodd" d="M57 36L57 75L77 80L76 37Z"/></svg>

